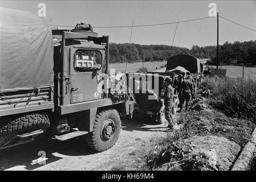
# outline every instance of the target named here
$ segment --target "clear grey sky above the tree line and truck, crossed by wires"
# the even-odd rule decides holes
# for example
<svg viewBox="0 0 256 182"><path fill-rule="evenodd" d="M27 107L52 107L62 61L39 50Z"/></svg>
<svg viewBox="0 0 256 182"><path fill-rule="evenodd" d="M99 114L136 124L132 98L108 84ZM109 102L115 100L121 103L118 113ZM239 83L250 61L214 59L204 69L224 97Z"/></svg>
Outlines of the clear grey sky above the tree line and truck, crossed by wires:
<svg viewBox="0 0 256 182"><path fill-rule="evenodd" d="M208 17L210 3L216 3L219 15L256 30L256 1L0 1L0 7L27 10L38 14L39 3L46 4L46 19L51 24L74 26L131 26L169 23ZM2 18L2 17L1 17ZM0 19L1 21L1 19ZM172 45L177 24L133 27L131 43ZM129 43L129 28L94 28L110 42ZM179 23L174 46L213 46L217 43L217 18ZM219 44L226 41L256 40L256 32L219 18Z"/></svg>

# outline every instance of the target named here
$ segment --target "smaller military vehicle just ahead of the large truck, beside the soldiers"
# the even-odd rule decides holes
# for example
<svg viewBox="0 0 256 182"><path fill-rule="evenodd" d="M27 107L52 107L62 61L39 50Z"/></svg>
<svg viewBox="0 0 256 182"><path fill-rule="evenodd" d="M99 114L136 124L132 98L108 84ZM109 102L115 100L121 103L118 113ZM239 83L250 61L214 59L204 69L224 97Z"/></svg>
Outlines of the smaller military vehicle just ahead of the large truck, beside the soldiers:
<svg viewBox="0 0 256 182"><path fill-rule="evenodd" d="M158 124L166 121L164 103L160 96L164 89L163 83L166 77L172 79L171 85L174 86L175 73L126 73L127 85L133 91L134 113L150 117ZM173 102L172 114L175 114L179 104L176 92Z"/></svg>

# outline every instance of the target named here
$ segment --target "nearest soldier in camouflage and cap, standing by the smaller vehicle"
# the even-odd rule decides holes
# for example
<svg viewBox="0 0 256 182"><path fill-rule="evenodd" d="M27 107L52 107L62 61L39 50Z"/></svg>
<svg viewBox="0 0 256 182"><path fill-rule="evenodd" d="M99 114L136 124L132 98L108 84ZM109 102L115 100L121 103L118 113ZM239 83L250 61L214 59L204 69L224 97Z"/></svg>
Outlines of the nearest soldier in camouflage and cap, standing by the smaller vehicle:
<svg viewBox="0 0 256 182"><path fill-rule="evenodd" d="M166 109L166 120L168 121L168 127L170 129L174 129L174 125L176 124L174 122L174 118L172 118L172 107L174 106L173 98L174 98L174 89L171 86L171 78L166 78L164 81L164 106Z"/></svg>

